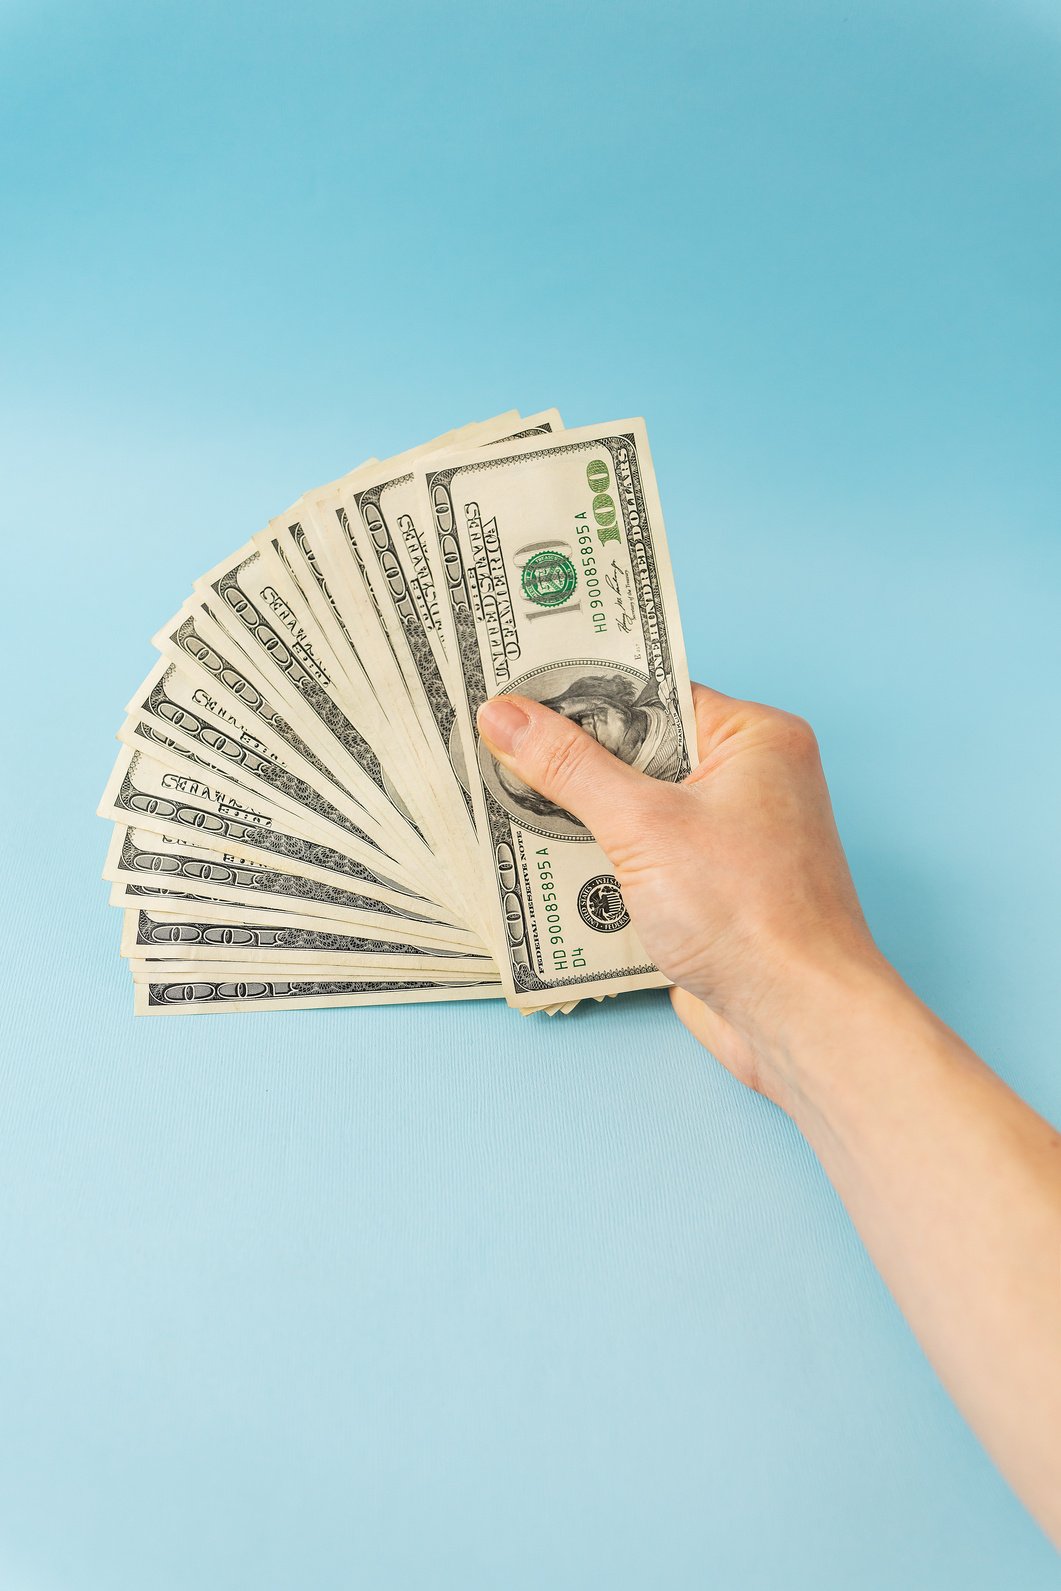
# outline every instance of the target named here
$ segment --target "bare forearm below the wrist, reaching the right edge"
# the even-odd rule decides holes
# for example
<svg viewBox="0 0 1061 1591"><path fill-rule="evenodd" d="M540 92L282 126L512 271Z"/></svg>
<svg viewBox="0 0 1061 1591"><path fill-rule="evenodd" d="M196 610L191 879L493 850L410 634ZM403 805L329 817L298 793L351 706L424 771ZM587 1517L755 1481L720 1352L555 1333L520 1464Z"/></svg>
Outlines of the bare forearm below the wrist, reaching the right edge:
<svg viewBox="0 0 1061 1591"><path fill-rule="evenodd" d="M813 975L786 1104L940 1379L1061 1545L1061 1138L883 964Z"/></svg>

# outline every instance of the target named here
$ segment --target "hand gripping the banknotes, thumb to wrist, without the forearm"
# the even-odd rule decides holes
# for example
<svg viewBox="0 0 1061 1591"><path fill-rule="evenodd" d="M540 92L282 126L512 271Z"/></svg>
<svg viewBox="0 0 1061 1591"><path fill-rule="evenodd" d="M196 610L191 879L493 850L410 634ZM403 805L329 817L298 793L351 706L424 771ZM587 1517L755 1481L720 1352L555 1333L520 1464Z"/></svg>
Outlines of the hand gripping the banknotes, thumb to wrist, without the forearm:
<svg viewBox="0 0 1061 1591"><path fill-rule="evenodd" d="M741 1082L791 1107L787 1033L806 988L884 963L810 725L692 689L700 764L681 784L635 772L525 697L484 703L479 730L597 837L684 1025Z"/></svg>

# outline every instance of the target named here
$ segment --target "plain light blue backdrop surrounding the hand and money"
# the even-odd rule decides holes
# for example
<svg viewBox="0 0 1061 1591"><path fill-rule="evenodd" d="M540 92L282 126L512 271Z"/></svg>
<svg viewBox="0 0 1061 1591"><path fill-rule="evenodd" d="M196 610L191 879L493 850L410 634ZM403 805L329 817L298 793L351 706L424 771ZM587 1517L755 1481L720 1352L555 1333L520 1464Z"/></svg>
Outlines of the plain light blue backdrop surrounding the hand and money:
<svg viewBox="0 0 1061 1591"><path fill-rule="evenodd" d="M304 488L644 414L695 675L1061 1118L1061 16L0 14L0 1585L1031 1588L795 1130L635 996L134 1021L148 636Z"/></svg>

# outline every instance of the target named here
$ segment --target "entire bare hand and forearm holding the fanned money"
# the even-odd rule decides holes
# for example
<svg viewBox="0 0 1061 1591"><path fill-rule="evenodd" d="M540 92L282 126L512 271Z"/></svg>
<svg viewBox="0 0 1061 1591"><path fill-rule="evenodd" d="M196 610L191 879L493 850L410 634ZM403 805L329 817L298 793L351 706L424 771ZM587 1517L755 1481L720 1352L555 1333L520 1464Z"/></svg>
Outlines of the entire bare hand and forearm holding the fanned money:
<svg viewBox="0 0 1061 1591"><path fill-rule="evenodd" d="M799 1125L940 1379L1061 1548L1061 1136L867 928L818 743L694 686L667 784L525 697L479 730L606 851L681 1021Z"/></svg>

